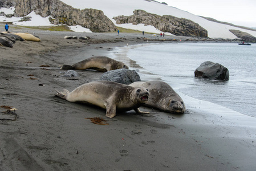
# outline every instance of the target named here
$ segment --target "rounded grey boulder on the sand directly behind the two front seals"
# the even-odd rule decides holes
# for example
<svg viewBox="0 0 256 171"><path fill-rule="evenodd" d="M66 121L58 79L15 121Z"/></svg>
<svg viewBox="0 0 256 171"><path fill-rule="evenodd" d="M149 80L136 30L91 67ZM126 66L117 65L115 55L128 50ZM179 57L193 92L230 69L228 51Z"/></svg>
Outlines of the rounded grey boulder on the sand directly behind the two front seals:
<svg viewBox="0 0 256 171"><path fill-rule="evenodd" d="M107 80L122 84L131 84L133 82L140 82L140 76L135 70L119 69L105 72L101 75L100 80Z"/></svg>

